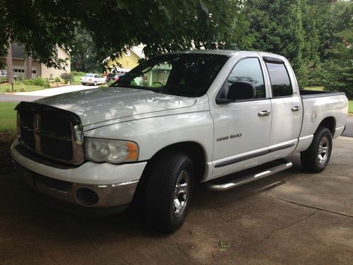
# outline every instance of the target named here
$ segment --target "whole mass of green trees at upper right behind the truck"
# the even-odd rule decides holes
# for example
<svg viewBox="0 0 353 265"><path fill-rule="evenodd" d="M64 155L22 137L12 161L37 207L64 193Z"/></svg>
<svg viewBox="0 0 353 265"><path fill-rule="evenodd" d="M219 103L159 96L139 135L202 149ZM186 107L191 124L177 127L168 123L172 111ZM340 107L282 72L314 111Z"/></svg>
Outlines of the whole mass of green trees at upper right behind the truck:
<svg viewBox="0 0 353 265"><path fill-rule="evenodd" d="M352 0L248 0L251 49L281 54L299 86L325 86L353 96Z"/></svg>

